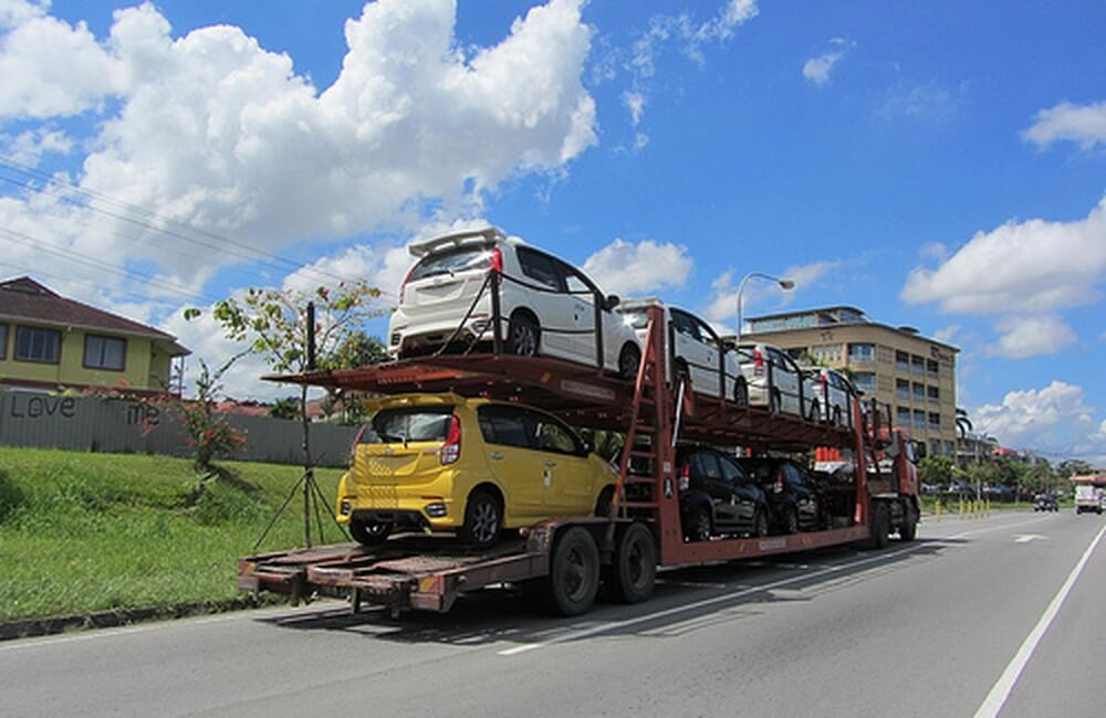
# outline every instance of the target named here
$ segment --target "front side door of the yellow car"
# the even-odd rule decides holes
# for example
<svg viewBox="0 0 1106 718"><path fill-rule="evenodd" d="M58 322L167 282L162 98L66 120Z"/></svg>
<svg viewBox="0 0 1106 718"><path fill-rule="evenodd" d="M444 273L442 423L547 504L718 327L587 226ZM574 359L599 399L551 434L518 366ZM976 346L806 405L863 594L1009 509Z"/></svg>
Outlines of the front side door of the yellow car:
<svg viewBox="0 0 1106 718"><path fill-rule="evenodd" d="M545 412L530 410L543 473L546 516L589 516L598 496L594 464L584 443L568 426Z"/></svg>

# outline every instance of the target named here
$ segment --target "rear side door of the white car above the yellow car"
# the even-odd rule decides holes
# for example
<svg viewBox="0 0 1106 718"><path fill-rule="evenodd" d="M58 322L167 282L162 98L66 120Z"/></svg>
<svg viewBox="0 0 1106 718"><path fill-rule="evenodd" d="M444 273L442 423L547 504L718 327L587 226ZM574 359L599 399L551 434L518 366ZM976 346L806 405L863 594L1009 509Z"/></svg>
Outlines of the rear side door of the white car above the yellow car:
<svg viewBox="0 0 1106 718"><path fill-rule="evenodd" d="M573 320L576 302L575 297L565 292L564 278L557 268L560 262L528 246L517 247L515 252L519 268L522 270L528 307L538 315L538 323L541 325L541 352L578 361L573 334L576 330L576 323ZM507 282L510 283L510 279ZM503 310L509 316L513 307L504 307Z"/></svg>

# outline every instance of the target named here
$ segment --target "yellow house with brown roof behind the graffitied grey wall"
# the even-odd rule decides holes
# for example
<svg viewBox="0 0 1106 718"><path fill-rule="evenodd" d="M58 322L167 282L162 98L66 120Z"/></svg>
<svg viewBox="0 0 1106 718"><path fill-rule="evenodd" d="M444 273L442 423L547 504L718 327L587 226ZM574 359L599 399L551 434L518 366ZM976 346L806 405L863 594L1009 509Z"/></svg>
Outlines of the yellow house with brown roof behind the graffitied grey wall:
<svg viewBox="0 0 1106 718"><path fill-rule="evenodd" d="M66 299L30 277L0 283L0 384L173 391L176 337ZM179 391L177 392L179 393Z"/></svg>

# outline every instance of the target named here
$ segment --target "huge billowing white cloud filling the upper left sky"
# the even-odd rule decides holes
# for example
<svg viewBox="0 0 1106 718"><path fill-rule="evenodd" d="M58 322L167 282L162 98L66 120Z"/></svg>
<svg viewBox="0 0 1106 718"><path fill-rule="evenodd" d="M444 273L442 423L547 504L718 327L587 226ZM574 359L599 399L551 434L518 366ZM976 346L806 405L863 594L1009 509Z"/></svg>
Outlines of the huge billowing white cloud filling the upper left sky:
<svg viewBox="0 0 1106 718"><path fill-rule="evenodd" d="M116 12L103 42L35 6L0 17L0 113L97 114L81 188L264 252L466 215L597 141L581 0L535 7L471 51L458 49L452 0L368 3L322 92L238 28L173 38L150 4ZM210 235L218 246L198 247L46 194L0 198L0 226L127 256L194 292L243 258Z"/></svg>

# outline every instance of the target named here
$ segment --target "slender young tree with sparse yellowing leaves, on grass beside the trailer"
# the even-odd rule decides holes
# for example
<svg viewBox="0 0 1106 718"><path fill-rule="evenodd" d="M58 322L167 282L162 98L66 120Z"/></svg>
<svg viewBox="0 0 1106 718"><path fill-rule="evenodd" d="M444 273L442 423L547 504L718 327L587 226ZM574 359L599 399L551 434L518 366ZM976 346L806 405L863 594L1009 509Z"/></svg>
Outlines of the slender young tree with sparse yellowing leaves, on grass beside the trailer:
<svg viewBox="0 0 1106 718"><path fill-rule="evenodd" d="M231 297L217 303L212 316L228 338L247 342L249 351L261 356L274 372L303 373L309 369L333 366L342 351L352 351L352 347L359 346L358 342L349 342L361 331L364 321L383 314L383 309L369 306L379 296L379 289L364 282L340 283L333 288L319 287L311 293L250 287L241 298ZM311 313L314 313L315 320L309 327ZM185 317L191 319L199 314L199 309L189 309ZM314 356L311 356L312 339ZM305 383L300 386L300 420L303 426L303 538L310 548L312 497L317 501L322 492L314 481ZM319 513L317 504L315 511ZM322 528L320 522L320 534Z"/></svg>

